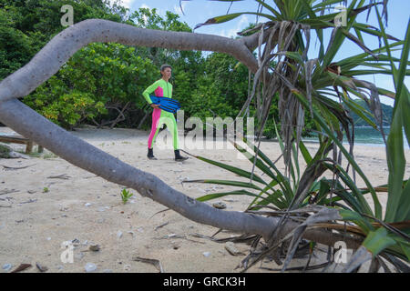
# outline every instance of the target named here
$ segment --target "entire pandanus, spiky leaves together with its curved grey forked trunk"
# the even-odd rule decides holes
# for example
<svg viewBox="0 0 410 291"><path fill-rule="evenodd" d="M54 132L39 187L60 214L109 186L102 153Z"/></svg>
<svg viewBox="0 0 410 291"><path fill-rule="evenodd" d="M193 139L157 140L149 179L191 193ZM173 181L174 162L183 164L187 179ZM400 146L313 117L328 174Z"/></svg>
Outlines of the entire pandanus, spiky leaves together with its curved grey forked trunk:
<svg viewBox="0 0 410 291"><path fill-rule="evenodd" d="M402 42L386 35L382 16L377 10L379 4L374 1L368 1L367 4L364 0L352 0L345 11L346 25L337 25L333 18L336 14L325 15L325 7L339 2L277 0L274 1L275 7L272 7L264 1L257 1L260 7L270 10L270 14L263 15L270 15L271 19L247 31L249 36L240 39L142 29L102 19L81 21L53 37L28 64L0 82L0 121L71 164L108 181L135 189L140 195L168 206L193 221L242 234L253 234L257 236L254 246L258 246L256 243L263 237L266 249L259 255L251 253L252 256L243 261L245 267L251 266L263 255L272 252L275 255L279 247L286 245L291 239L283 267L285 269L302 237L327 246L334 246L337 241L344 240L347 246L358 249L346 271L357 269L357 266L369 259L374 263L371 265L372 271L378 269L378 264L387 270L385 260L393 263L398 270L405 270L407 266L401 259L408 261L409 258L410 186L408 180L404 179L403 129L408 143L410 116L406 113L410 102L404 78L407 75L410 29L407 27L405 41ZM386 1L384 8L385 5ZM380 31L373 26L356 23L358 14L372 9L379 19ZM385 11L384 9L384 15ZM258 13L261 14L261 11ZM229 20L230 17L224 15L208 23ZM321 34L326 28L332 29L332 35L329 45L324 49ZM322 48L317 58L309 60L307 56L312 29L316 30ZM369 50L363 42L364 33L383 38L384 46ZM364 49L364 55L336 61L334 56L346 39L360 45ZM392 40L394 42L390 44L389 41ZM255 200L253 206L256 208L250 209L259 212L259 215L215 209L173 189L157 176L129 166L68 134L17 100L30 94L38 85L55 75L78 49L93 42L215 51L230 54L248 66L255 74L254 84L241 114L256 96L258 118L263 126L272 96L279 94L280 97L280 136L287 167L283 173L278 173L273 167L274 163L273 166L268 165L268 168L272 167L270 171L274 181L267 181L267 185L262 182L260 188L268 194L273 192L276 195L273 197L282 202L282 206L278 205L282 211L274 209L276 212L263 213L261 207L270 207L272 203L261 205L261 197ZM255 47L258 48L258 59L252 55ZM401 49L400 58L393 57L392 51L395 49ZM398 61L400 65L397 68L395 65ZM368 67L367 72L364 72L366 70L363 70L362 66ZM361 75L360 72L393 75L395 93L356 78L355 76ZM366 94L370 95L370 98L367 98ZM395 98L391 132L386 141L389 179L388 185L381 187L387 188L388 191L385 215L376 195L381 188L372 186L354 162L354 131L349 131L348 125L351 121L347 111L352 110L364 115L362 108L355 105L352 96L369 99L372 115L376 117L374 126L379 127L379 94ZM332 95L339 98L339 103L331 98ZM319 150L312 156L308 155L300 138L304 111L313 116L319 132ZM343 131L350 139L350 151L341 143ZM253 158L250 156L253 165L262 166L260 161L263 158L258 150L259 145L256 148L251 145L251 148L256 150L256 155ZM327 156L331 150L332 158ZM302 173L298 172L299 163L295 158L298 151L302 152L308 163ZM365 189L357 188L354 177L352 179L348 169L342 168L339 159L342 155L350 163L349 169L354 169L355 173L362 177ZM264 163L269 164L267 161ZM330 180L331 183L318 180L326 171L335 176ZM245 171L241 174L245 175ZM256 176L251 174L250 177L251 181L256 181L253 184L259 183ZM364 199L367 194L373 199L374 206L370 206ZM264 193L262 195L266 198ZM312 199L308 200L310 205L306 204L307 196L312 196ZM342 225L340 221L353 225Z"/></svg>

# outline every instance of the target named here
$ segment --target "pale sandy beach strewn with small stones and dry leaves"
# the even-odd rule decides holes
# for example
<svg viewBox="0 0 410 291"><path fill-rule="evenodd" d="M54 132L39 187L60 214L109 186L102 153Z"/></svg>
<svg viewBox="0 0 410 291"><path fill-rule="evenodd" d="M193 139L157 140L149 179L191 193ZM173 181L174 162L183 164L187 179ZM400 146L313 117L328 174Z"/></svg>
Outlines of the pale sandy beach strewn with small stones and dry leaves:
<svg viewBox="0 0 410 291"><path fill-rule="evenodd" d="M13 131L0 127L2 133ZM154 151L158 160L148 160L148 133L144 131L82 128L72 134L129 165L159 176L169 186L191 197L225 192L233 187L181 184L182 180L238 179L230 172L192 157L177 163L173 160L172 149L160 146L160 142ZM15 150L25 149L15 144L9 146ZM189 147L185 145L192 154L251 170L248 160L239 158L237 151L226 146L224 149ZM308 144L308 148L313 151L316 145ZM272 160L281 154L279 145L273 142L262 142L261 150ZM384 147L355 146L354 155L374 186L387 182ZM410 161L409 150L405 157ZM279 167L283 168L281 163ZM28 167L10 170L5 166ZM410 176L408 163L405 176ZM357 184L364 186L359 178ZM134 261L135 256L159 260L165 272L239 272L235 267L244 256L231 256L224 244L191 236L211 236L217 228L197 224L174 211L160 212L166 207L139 196L133 189L128 190L134 196L123 205L122 189L47 150L40 156L26 159L0 159L0 273L10 272L23 263L33 265L24 272L39 272L36 262L46 266L48 272L85 272L87 263L97 266L95 272L158 272L153 265ZM5 192L8 193L2 194ZM379 198L385 204L386 196L382 194ZM251 197L227 196L209 203L218 201L224 202L229 210L243 211ZM224 232L217 237L230 236L235 234ZM72 263L69 262L69 248L64 246L67 241L75 243ZM99 245L100 250L89 251L91 245ZM244 253L249 249L245 244L236 246ZM302 266L305 262L306 259L295 260L291 266ZM318 263L319 258L313 257L311 265ZM6 264L10 264L11 269L3 269ZM253 266L250 272L267 272L260 266L277 267L265 260L262 265Z"/></svg>

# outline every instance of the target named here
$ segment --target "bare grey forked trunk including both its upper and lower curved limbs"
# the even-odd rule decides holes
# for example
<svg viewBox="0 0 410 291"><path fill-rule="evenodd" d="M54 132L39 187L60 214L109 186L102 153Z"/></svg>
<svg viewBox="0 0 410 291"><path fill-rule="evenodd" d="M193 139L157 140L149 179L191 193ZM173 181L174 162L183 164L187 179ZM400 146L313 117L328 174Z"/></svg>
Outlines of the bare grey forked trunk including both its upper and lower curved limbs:
<svg viewBox="0 0 410 291"><path fill-rule="evenodd" d="M108 181L128 186L142 196L175 210L190 220L228 229L234 232L258 234L266 239L280 218L264 217L237 211L224 211L199 202L169 187L158 177L121 162L118 158L97 149L61 127L38 115L16 97L23 97L56 74L71 55L92 42L117 42L124 45L147 45L179 50L211 50L233 55L252 72L257 61L245 37L233 40L215 35L164 32L136 28L106 20L90 19L73 25L56 35L27 65L0 83L0 121L41 146L45 146L69 163L101 176ZM288 221L284 234L299 224ZM320 229L307 230L303 237L333 246L344 240L348 247L357 248L360 241Z"/></svg>

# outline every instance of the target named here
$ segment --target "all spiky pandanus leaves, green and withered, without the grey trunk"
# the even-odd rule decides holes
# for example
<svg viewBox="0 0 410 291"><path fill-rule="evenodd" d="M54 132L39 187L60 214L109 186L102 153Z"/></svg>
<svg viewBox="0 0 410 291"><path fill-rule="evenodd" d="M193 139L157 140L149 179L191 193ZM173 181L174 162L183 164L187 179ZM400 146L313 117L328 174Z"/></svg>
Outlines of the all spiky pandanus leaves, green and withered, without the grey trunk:
<svg viewBox="0 0 410 291"><path fill-rule="evenodd" d="M256 99L256 117L261 124L258 134L260 143L272 98L279 94L281 132L277 135L285 170L278 169L262 153L260 144L254 145L243 138L246 146L241 146L237 141L232 142L251 161L251 171L203 156L196 157L249 181L204 179L186 182L240 187L231 192L201 196L198 200L207 201L227 195L254 196L246 212L261 216L282 216L281 223L273 231L272 239L263 246L263 251L251 251L250 256L242 261L245 269L263 256L276 254L280 247L286 246L286 259L282 267L285 270L301 242L302 233L308 228L327 228L360 242L343 271L357 271L367 261L372 262L369 272L377 271L380 266L390 271L385 261L393 264L398 272L408 271L409 267L404 262L410 261L410 183L405 179L404 152L405 139L410 144L410 95L404 80L405 75L409 75L410 22L407 24L405 39L399 40L384 31L387 0L383 3L373 0L352 0L349 3L337 0L273 0L270 4L268 1L255 1L258 4L257 12L220 15L196 28L224 23L241 15L257 15L267 19L267 22L239 33L260 33L257 47L259 68L253 75L251 94L239 116L249 109L252 99ZM232 5L238 1L223 2L231 2ZM328 7L341 3L346 5L342 15L326 13L330 11ZM380 5L383 5L382 15L379 12ZM366 12L368 17L372 11L377 16L379 27L357 21L359 14ZM340 16L342 22L338 18ZM326 30L331 31L327 45L323 40ZM313 31L320 45L317 53L310 50ZM374 35L379 41L383 40L384 45L370 49L364 43L364 35ZM335 60L346 42L353 42L364 52ZM394 50L401 51L401 57L393 56ZM309 59L308 55L313 54L317 54L317 57ZM399 66L396 67L396 64ZM361 79L363 75L393 77L395 92ZM373 186L354 160L354 122L349 113L359 115L384 136L379 95L393 98L395 105L390 133L386 140L384 137L388 183ZM364 99L370 112L356 103L355 98ZM301 139L305 113L312 116L318 134L319 146L314 155L309 153ZM347 137L349 149L343 146L343 135ZM306 163L303 171L299 151ZM333 155L329 155L331 151ZM346 168L342 166L343 156L347 160ZM264 173L263 178L254 173L255 166ZM323 177L327 172L332 173L333 178ZM364 188L356 185L356 175L363 179ZM378 198L380 192L388 193L384 212ZM365 196L371 196L373 206ZM302 219L302 224L286 233L282 226L289 219ZM259 239L260 236L257 236L255 242Z"/></svg>

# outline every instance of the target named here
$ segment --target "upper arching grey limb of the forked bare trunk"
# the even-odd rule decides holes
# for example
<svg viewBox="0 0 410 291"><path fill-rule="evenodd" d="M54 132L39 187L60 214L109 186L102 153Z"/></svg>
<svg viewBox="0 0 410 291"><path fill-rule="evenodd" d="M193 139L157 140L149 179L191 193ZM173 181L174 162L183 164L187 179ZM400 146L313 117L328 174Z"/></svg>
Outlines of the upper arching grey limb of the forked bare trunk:
<svg viewBox="0 0 410 291"><path fill-rule="evenodd" d="M252 72L258 69L257 61L246 45L246 37L234 40L217 35L152 30L108 20L87 19L54 36L27 65L7 76L0 83L0 102L29 95L55 75L77 50L97 42L226 53Z"/></svg>

